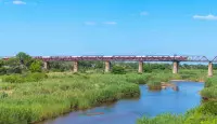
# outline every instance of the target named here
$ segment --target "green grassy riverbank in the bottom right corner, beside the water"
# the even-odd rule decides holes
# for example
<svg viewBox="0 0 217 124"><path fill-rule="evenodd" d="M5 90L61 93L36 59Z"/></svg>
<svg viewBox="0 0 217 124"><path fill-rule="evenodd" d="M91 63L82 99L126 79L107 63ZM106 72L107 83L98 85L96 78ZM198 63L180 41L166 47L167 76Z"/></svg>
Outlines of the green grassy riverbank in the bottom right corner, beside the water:
<svg viewBox="0 0 217 124"><path fill-rule="evenodd" d="M200 92L201 106L189 110L184 114L175 115L165 113L150 119L143 116L137 124L216 124L217 123L217 77L205 81L205 87Z"/></svg>

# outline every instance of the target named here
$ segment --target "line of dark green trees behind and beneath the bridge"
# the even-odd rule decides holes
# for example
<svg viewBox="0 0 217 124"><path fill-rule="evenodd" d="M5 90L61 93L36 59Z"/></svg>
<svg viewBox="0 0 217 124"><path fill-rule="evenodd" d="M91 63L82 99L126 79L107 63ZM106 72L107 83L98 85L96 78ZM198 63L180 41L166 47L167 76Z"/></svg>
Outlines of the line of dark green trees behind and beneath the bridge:
<svg viewBox="0 0 217 124"><path fill-rule="evenodd" d="M103 72L103 61L78 61L80 72L99 71ZM113 61L111 63L112 69L120 69L125 71L137 71L138 63ZM42 72L43 63L38 59L31 58L30 55L20 52L15 57L8 60L0 59L0 74L23 73L23 72ZM73 61L49 61L49 71L63 72L71 71ZM171 64L153 64L144 63L143 71L152 72L155 70L170 70ZM180 69L207 69L207 65L180 65ZM217 69L217 65L214 65Z"/></svg>

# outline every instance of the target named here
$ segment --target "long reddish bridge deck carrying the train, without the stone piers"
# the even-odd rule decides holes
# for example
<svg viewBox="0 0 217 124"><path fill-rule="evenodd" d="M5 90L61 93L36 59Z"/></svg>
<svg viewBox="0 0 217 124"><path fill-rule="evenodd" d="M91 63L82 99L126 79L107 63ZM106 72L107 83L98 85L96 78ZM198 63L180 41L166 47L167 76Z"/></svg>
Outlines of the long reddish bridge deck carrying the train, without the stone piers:
<svg viewBox="0 0 217 124"><path fill-rule="evenodd" d="M205 56L167 56L167 55L146 55L146 56L33 56L43 61L76 61L76 60L110 60L110 61L217 61L217 57L208 60Z"/></svg>

